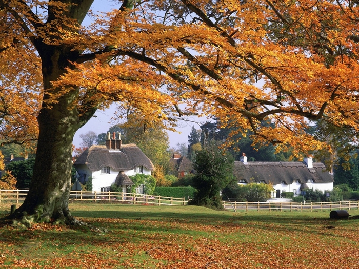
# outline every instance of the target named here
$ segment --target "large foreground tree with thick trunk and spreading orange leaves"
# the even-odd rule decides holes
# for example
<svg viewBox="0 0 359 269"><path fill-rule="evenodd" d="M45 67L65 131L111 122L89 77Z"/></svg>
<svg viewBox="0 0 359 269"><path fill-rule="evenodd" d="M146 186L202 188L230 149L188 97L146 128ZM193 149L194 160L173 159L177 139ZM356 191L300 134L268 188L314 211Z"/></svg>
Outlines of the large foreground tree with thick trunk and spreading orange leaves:
<svg viewBox="0 0 359 269"><path fill-rule="evenodd" d="M30 190L11 218L77 223L72 138L113 101L119 117L136 112L146 126L212 114L296 156L331 151L306 132L308 120L359 129L356 1L125 0L102 17L92 2L0 0L2 94L31 107L39 128Z"/></svg>

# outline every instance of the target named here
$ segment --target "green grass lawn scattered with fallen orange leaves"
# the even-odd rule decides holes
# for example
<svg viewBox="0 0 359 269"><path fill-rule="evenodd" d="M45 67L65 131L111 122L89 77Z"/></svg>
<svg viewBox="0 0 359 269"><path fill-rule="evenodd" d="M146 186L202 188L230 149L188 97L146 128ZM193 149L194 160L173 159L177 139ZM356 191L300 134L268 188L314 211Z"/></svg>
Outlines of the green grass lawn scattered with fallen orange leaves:
<svg viewBox="0 0 359 269"><path fill-rule="evenodd" d="M70 209L108 233L0 227L0 268L359 268L359 218L331 220L329 211L99 203ZM0 204L0 216L5 210L10 204Z"/></svg>

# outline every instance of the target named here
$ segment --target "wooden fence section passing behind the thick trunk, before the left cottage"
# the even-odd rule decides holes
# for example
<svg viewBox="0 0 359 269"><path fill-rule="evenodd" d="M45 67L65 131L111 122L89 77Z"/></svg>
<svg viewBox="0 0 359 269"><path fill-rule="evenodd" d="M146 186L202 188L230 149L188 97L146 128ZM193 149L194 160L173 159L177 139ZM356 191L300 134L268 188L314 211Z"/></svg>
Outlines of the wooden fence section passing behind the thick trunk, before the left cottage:
<svg viewBox="0 0 359 269"><path fill-rule="evenodd" d="M25 200L28 190L0 190L0 203L20 203ZM83 192L71 191L70 201L110 201L127 204L152 205L186 205L189 197L174 198L146 194L116 193L116 192Z"/></svg>

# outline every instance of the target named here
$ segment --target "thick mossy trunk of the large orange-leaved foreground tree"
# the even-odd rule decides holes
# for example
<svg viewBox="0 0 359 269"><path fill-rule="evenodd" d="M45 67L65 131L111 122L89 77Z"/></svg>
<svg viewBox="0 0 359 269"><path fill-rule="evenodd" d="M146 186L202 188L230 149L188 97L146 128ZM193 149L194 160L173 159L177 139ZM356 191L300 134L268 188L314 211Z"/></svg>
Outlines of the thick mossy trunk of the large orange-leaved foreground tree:
<svg viewBox="0 0 359 269"><path fill-rule="evenodd" d="M69 65L69 53L58 48L52 50L44 48L42 51L40 55L45 94L37 119L39 137L33 177L24 203L9 216L9 219L20 219L26 226L44 221L78 224L68 208L71 190L72 140L83 123L79 119L75 105L78 90L61 94L55 104L48 103L51 96L48 93L60 91L60 89L51 89L51 81L57 80L65 73L65 68Z"/></svg>

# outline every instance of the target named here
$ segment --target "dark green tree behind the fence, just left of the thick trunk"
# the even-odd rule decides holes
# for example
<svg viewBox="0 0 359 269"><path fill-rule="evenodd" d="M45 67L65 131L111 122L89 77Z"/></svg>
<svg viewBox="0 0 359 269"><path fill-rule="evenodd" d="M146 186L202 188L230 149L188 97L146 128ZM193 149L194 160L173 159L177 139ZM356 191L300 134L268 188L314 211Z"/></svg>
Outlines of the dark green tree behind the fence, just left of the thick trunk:
<svg viewBox="0 0 359 269"><path fill-rule="evenodd" d="M16 178L16 188L25 189L30 187L32 170L35 159L27 159L25 161L14 161L7 165L6 170Z"/></svg>

